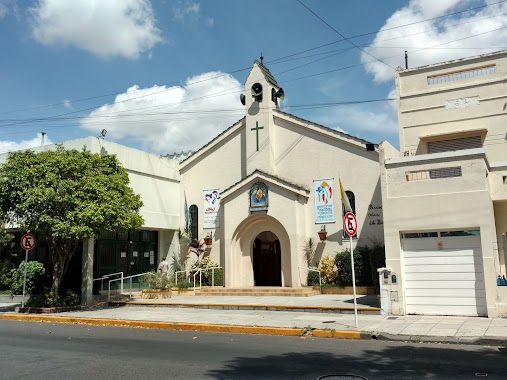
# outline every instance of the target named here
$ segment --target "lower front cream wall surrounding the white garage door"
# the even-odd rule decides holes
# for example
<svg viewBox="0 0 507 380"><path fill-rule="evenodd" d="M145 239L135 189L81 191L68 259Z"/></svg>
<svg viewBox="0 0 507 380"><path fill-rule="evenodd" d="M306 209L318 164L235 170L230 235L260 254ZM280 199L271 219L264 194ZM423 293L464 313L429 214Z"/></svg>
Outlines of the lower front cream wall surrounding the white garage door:
<svg viewBox="0 0 507 380"><path fill-rule="evenodd" d="M495 250L493 203L486 178L484 152L475 156L450 152L445 154L396 157L399 152L388 143L381 144L382 203L386 267L398 276L399 302L392 305L394 314L405 314L404 263L401 234L452 229L479 228L488 315L497 314L496 272L499 267ZM394 153L395 157L390 155ZM425 171L460 166L462 176L420 181L406 181L407 171Z"/></svg>

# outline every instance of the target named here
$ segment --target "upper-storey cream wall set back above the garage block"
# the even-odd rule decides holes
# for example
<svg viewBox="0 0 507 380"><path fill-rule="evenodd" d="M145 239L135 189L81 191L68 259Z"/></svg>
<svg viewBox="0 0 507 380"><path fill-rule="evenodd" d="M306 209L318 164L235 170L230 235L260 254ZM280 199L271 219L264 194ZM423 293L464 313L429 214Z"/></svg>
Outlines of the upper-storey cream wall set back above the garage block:
<svg viewBox="0 0 507 380"><path fill-rule="evenodd" d="M496 73L428 84L428 76L496 65ZM507 52L398 71L400 150L427 153L427 141L483 130L488 160L505 161ZM422 139L423 137L425 137ZM503 143L502 143L503 142Z"/></svg>

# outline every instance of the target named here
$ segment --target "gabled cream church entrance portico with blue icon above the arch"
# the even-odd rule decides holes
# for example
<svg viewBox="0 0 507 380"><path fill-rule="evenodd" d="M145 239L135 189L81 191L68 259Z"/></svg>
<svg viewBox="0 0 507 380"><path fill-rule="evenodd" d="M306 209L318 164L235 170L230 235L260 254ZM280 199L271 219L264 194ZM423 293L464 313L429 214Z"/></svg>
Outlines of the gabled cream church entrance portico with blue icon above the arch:
<svg viewBox="0 0 507 380"><path fill-rule="evenodd" d="M265 193L257 209L250 199L259 188ZM299 215L305 213L308 193L259 171L222 193L226 287L301 286L298 266L306 234Z"/></svg>

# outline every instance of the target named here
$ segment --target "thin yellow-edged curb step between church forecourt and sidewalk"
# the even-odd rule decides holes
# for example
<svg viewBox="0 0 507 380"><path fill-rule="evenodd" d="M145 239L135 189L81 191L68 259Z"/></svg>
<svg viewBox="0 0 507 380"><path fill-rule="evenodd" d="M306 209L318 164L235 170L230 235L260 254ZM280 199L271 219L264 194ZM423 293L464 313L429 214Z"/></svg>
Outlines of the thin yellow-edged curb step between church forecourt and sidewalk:
<svg viewBox="0 0 507 380"><path fill-rule="evenodd" d="M334 306L300 306L300 305L246 305L246 304L202 304L202 303L173 303L173 302L150 302L150 301L110 301L109 306L160 306L175 308L196 308L196 309L219 309L219 310L268 310L268 311L304 311L316 313L336 313L351 314L354 313L353 307L334 307ZM379 314L380 308L377 307L358 307L358 314Z"/></svg>

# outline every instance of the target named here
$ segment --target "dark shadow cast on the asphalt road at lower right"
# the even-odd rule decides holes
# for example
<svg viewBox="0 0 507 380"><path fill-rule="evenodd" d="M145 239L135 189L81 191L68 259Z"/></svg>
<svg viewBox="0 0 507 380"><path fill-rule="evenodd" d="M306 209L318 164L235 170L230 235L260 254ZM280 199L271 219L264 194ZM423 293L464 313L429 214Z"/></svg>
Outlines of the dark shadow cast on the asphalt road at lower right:
<svg viewBox="0 0 507 380"><path fill-rule="evenodd" d="M346 344L337 341L337 345ZM507 352L492 347L391 345L375 347L375 351L355 349L353 352L357 356L291 352L236 357L224 368L210 370L207 375L215 379L317 379L325 375L334 375L329 379L356 375L369 380L507 378L504 364Z"/></svg>

